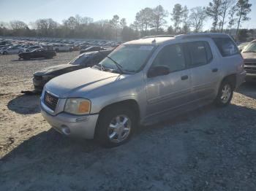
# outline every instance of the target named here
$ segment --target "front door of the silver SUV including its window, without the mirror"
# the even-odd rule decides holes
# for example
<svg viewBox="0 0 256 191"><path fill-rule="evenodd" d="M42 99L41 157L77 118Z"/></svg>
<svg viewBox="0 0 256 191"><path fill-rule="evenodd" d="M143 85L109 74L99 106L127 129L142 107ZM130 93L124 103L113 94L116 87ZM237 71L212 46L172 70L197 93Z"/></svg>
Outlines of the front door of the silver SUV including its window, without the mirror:
<svg viewBox="0 0 256 191"><path fill-rule="evenodd" d="M160 50L151 69L166 66L170 73L146 77L147 116L157 116L190 101L192 80L186 60L183 44L170 44Z"/></svg>

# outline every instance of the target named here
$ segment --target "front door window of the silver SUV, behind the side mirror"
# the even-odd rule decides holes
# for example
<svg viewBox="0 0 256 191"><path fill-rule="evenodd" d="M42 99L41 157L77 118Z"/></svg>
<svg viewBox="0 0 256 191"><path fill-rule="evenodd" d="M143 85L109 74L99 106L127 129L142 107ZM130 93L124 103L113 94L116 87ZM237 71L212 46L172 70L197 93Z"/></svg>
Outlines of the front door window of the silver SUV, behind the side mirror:
<svg viewBox="0 0 256 191"><path fill-rule="evenodd" d="M154 60L153 66L167 66L170 71L185 69L185 58L181 44L164 47Z"/></svg>

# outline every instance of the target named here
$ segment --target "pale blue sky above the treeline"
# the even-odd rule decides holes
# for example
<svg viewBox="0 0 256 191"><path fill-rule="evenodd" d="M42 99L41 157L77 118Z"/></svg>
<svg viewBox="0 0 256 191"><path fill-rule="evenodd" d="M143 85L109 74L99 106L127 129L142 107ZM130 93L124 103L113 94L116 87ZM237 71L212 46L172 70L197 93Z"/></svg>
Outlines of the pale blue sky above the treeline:
<svg viewBox="0 0 256 191"><path fill-rule="evenodd" d="M168 12L174 4L187 5L189 9L197 6L207 6L210 0L0 0L0 21L22 20L25 23L34 22L39 18L52 18L61 23L69 16L80 15L91 17L94 21L108 19L113 15L127 19L128 25L133 23L135 15L145 7L157 7L161 4ZM252 4L252 19L242 23L242 28L256 28L256 0ZM170 15L166 18L167 25L173 24ZM211 20L206 20L204 30L211 28Z"/></svg>

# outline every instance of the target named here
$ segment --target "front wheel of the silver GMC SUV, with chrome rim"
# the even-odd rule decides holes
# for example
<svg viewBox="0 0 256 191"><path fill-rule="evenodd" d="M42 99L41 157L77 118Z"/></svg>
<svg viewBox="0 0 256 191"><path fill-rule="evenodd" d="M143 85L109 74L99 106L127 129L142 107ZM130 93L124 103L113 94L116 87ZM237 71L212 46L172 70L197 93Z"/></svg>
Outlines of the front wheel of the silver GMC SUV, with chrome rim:
<svg viewBox="0 0 256 191"><path fill-rule="evenodd" d="M100 114L95 138L103 147L116 147L129 140L136 125L131 109L113 106Z"/></svg>

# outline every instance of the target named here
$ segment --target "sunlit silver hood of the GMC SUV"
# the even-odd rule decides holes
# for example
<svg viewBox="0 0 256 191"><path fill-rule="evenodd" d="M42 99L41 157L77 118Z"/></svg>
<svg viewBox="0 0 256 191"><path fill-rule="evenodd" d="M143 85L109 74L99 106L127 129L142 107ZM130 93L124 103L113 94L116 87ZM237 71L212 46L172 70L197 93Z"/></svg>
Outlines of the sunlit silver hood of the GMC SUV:
<svg viewBox="0 0 256 191"><path fill-rule="evenodd" d="M120 74L97 69L80 69L51 79L45 89L60 98L83 97L86 92L115 82L119 76Z"/></svg>

